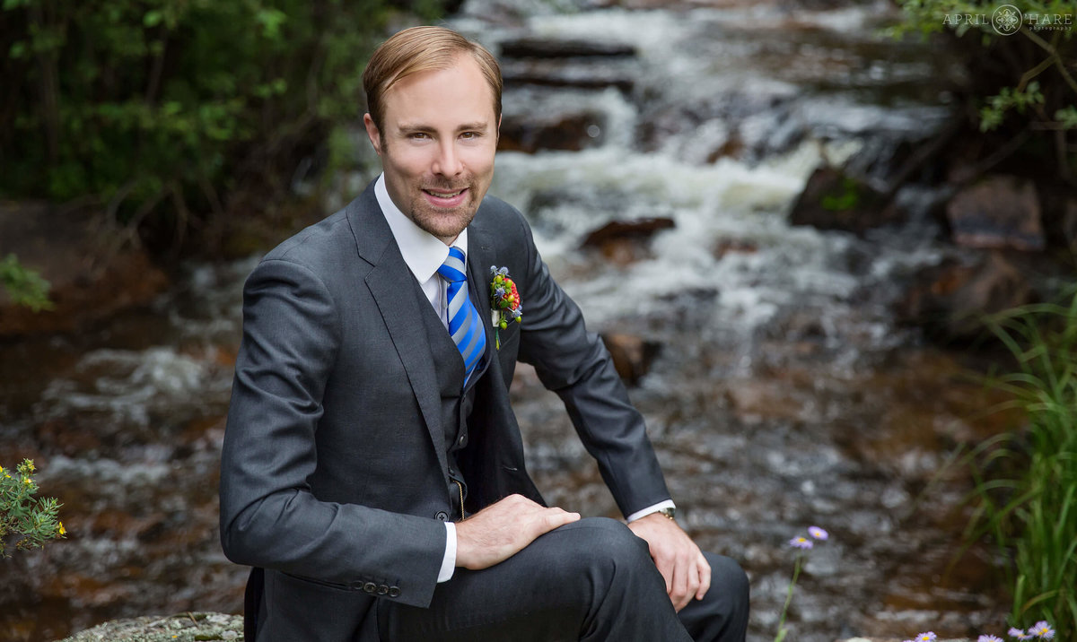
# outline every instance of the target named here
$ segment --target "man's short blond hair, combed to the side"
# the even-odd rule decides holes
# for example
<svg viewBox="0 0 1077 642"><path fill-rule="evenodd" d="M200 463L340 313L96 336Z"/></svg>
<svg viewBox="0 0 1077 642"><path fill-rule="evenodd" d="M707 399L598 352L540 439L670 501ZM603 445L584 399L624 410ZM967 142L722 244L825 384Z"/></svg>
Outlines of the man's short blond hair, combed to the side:
<svg viewBox="0 0 1077 642"><path fill-rule="evenodd" d="M363 71L366 110L381 130L382 97L393 85L423 71L451 69L461 54L470 55L490 85L494 120L501 118L501 67L482 45L445 27L411 27L381 43Z"/></svg>

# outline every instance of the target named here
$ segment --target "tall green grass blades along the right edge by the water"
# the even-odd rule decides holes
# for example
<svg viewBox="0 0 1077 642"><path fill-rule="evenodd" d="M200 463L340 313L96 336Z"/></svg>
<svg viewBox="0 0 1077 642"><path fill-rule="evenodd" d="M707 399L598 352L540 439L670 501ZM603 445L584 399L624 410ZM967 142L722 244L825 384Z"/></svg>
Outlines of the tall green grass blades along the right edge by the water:
<svg viewBox="0 0 1077 642"><path fill-rule="evenodd" d="M1011 624L1047 619L1065 637L1077 632L1077 294L989 324L1017 361L992 384L1026 425L974 452L968 534L991 536L1007 556Z"/></svg>

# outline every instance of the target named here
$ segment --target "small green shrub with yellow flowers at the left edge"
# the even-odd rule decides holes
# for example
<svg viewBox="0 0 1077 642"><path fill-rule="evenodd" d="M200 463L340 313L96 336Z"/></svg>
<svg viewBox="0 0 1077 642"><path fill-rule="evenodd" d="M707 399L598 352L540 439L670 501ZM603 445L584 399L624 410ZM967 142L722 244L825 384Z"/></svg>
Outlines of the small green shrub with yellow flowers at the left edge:
<svg viewBox="0 0 1077 642"><path fill-rule="evenodd" d="M56 498L37 498L33 460L24 459L14 474L0 466L0 557L11 557L6 545L40 548L48 540L67 533L58 518L61 503Z"/></svg>

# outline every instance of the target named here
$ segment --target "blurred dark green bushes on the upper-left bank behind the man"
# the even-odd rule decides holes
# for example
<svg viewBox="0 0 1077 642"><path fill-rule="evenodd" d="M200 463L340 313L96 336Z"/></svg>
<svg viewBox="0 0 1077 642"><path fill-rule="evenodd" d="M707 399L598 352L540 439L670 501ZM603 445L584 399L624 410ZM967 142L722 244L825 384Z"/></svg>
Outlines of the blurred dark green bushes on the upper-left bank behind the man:
<svg viewBox="0 0 1077 642"><path fill-rule="evenodd" d="M0 156L18 162L0 192L89 196L136 224L280 198L362 114L392 1L3 0Z"/></svg>

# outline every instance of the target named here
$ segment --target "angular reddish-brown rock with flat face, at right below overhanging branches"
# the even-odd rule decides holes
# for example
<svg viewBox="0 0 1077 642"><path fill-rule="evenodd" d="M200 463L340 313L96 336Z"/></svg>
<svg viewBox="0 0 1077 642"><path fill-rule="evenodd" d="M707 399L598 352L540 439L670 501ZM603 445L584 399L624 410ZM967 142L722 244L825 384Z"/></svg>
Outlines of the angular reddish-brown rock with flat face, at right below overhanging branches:
<svg viewBox="0 0 1077 642"><path fill-rule="evenodd" d="M1040 252L1047 244L1032 181L989 176L955 194L946 215L960 245Z"/></svg>

